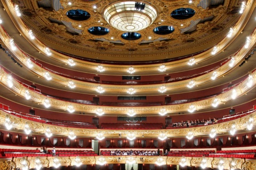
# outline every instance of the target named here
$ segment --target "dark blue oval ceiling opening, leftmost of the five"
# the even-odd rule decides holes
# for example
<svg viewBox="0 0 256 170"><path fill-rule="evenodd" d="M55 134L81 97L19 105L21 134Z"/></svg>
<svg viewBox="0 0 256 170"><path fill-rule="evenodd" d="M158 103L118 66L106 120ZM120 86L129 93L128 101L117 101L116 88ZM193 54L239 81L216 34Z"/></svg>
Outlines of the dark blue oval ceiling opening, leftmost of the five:
<svg viewBox="0 0 256 170"><path fill-rule="evenodd" d="M66 15L71 20L85 21L90 18L90 13L84 10L69 10Z"/></svg>

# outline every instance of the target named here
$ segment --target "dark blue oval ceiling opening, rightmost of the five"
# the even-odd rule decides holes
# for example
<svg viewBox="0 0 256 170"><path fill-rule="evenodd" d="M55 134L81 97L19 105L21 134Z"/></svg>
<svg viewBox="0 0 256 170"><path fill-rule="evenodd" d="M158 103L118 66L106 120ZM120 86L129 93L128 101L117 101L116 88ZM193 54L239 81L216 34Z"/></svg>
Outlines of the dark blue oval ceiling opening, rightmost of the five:
<svg viewBox="0 0 256 170"><path fill-rule="evenodd" d="M172 11L171 16L177 20L185 20L195 15L195 11L191 8L178 8Z"/></svg>

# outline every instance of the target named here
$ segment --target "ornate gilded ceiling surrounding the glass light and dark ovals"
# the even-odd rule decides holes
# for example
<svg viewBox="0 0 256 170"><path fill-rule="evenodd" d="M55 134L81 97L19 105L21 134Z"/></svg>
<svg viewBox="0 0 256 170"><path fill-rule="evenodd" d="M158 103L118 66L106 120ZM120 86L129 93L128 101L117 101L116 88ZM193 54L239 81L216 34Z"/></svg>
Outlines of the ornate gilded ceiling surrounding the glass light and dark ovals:
<svg viewBox="0 0 256 170"><path fill-rule="evenodd" d="M138 31L141 38L125 40L121 37L125 32L113 28L102 16L116 2L119 1L76 0L69 5L66 0L14 1L19 5L23 22L44 44L71 55L110 61L163 60L201 52L219 43L241 16L241 1L142 1L156 9L157 18ZM171 13L179 8L191 8L195 14L188 19L174 19ZM90 18L70 19L70 10L84 10ZM155 28L163 25L174 31L168 35L154 33ZM91 27L104 27L109 32L92 35L88 31Z"/></svg>

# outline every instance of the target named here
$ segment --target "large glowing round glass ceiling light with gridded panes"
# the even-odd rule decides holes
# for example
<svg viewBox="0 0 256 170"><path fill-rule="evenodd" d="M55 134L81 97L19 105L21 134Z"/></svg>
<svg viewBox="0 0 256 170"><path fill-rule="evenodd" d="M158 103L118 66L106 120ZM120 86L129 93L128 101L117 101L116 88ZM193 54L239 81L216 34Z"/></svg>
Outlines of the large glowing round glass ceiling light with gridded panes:
<svg viewBox="0 0 256 170"><path fill-rule="evenodd" d="M126 1L108 6L103 12L103 17L118 30L135 32L153 23L157 18L157 11L149 4Z"/></svg>

